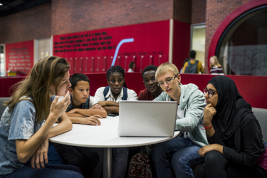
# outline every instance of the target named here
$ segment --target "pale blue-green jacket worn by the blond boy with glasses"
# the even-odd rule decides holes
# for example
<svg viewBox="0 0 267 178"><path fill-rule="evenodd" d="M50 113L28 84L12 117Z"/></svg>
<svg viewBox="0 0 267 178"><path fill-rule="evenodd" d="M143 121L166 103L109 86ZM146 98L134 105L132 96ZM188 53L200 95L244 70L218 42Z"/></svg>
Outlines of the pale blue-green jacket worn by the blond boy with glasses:
<svg viewBox="0 0 267 178"><path fill-rule="evenodd" d="M181 95L179 106L184 110L184 118L176 120L175 130L188 132L192 142L200 147L208 145L206 132L203 128L203 115L206 106L204 94L199 90L197 85L189 83L188 85L180 84ZM171 101L172 98L167 93L162 92L154 101Z"/></svg>

